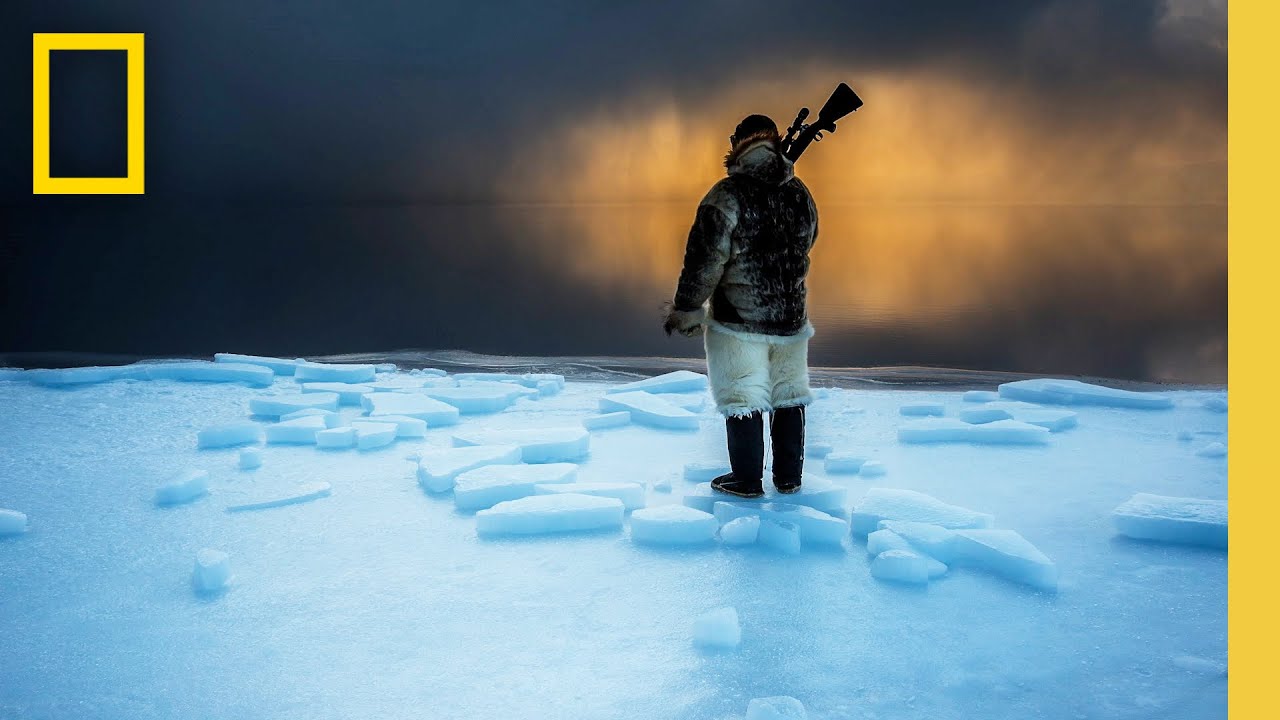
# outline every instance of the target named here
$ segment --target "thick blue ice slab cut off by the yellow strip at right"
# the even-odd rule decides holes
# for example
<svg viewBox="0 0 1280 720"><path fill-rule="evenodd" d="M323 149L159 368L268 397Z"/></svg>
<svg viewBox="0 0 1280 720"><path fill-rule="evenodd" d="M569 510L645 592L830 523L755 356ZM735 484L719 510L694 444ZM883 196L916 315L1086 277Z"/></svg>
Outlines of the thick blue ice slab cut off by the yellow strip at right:
<svg viewBox="0 0 1280 720"><path fill-rule="evenodd" d="M1226 547L1226 501L1135 493L1112 512L1116 530L1135 539Z"/></svg>

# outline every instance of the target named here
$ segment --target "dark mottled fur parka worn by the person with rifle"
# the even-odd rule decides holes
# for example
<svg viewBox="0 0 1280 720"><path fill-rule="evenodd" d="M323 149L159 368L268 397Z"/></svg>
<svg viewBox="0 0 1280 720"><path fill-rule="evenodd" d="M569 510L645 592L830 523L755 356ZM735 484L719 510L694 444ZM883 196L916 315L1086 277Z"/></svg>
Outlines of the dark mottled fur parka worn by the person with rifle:
<svg viewBox="0 0 1280 720"><path fill-rule="evenodd" d="M698 313L709 300L712 325L812 334L805 275L818 210L809 188L792 174L773 133L739 141L724 168L728 177L703 197L689 231L675 311Z"/></svg>

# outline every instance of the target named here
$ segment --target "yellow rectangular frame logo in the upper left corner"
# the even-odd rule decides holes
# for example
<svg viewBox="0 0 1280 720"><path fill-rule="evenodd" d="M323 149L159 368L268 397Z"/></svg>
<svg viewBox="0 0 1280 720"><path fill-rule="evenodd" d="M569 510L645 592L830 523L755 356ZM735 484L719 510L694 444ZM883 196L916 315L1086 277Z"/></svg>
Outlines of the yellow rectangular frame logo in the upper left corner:
<svg viewBox="0 0 1280 720"><path fill-rule="evenodd" d="M35 195L142 195L146 177L146 54L141 32L37 32L31 36L31 190ZM49 176L49 54L124 50L128 169L123 178Z"/></svg>

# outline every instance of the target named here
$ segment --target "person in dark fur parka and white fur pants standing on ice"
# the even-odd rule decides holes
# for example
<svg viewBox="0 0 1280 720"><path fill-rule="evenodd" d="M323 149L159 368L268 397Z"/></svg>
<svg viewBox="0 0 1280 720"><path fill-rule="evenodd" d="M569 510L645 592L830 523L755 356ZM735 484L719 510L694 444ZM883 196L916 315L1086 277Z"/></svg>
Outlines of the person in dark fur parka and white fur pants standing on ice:
<svg viewBox="0 0 1280 720"><path fill-rule="evenodd" d="M698 206L664 323L667 334L703 332L732 468L712 487L739 497L764 495L765 413L773 486L800 489L805 406L813 401L805 275L818 209L781 140L764 115L749 115L730 136L728 174Z"/></svg>

